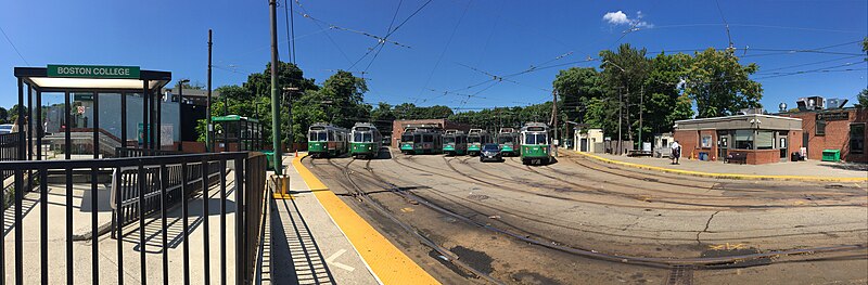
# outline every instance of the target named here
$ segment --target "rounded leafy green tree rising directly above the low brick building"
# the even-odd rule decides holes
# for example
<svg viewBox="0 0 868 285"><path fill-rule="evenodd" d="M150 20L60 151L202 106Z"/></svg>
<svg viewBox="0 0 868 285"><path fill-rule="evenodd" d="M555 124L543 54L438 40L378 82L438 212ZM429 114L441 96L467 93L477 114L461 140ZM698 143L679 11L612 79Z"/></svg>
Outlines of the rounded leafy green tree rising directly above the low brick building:
<svg viewBox="0 0 868 285"><path fill-rule="evenodd" d="M756 64L741 65L731 50L707 49L693 56L686 74L685 92L697 103L699 118L733 115L761 107L763 87L749 78Z"/></svg>

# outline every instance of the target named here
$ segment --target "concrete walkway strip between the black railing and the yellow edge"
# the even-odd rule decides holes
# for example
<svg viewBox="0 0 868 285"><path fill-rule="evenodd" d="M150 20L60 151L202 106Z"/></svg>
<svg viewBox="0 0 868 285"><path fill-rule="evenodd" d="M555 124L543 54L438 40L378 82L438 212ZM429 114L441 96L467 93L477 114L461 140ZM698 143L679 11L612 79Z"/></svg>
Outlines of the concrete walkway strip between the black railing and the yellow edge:
<svg viewBox="0 0 868 285"><path fill-rule="evenodd" d="M272 284L379 284L285 156L292 199L272 199L269 260L263 276ZM328 190L327 190L328 191Z"/></svg>

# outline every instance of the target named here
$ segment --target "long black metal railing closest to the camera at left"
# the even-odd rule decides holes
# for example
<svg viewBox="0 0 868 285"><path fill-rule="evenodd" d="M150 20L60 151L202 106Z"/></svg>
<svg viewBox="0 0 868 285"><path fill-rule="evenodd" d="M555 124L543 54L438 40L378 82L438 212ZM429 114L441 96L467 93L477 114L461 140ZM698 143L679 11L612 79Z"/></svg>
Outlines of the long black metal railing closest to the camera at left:
<svg viewBox="0 0 868 285"><path fill-rule="evenodd" d="M196 167L197 166L197 167ZM203 167L204 166L204 167ZM36 173L36 178L39 181L38 184L38 205L34 205L33 207L38 207L40 215L38 220L38 225L36 222L30 222L26 224L26 226L39 226L40 233L40 247L39 250L40 262L39 268L24 268L25 262L24 259L24 249L23 249L23 233L22 230L25 224L23 223L24 219L24 210L23 210L23 202L24 195L29 190L28 186L24 183L24 181L16 180L15 181L15 197L14 197L14 218L12 219L11 230L14 231L15 238L14 238L14 262L12 264L7 264L5 260L5 252L7 252L7 245L4 239L0 238L0 285L5 284L5 277L2 276L11 276L14 280L15 284L31 284L37 283L37 281L27 281L24 280L25 277L25 270L27 272L40 272L41 274L41 282L43 284L48 283L49 281L49 272L56 271L58 269L49 267L49 245L48 245L48 223L50 219L56 219L56 217L50 217L48 207L50 206L48 203L48 195L49 195L49 186L53 189L59 189L65 186L66 190L66 203L61 204L60 206L65 207L66 210L66 252L65 252L65 277L66 283L72 284L73 278L76 274L81 274L81 270L90 270L91 272L91 284L99 284L100 280L100 260L104 260L101 258L99 254L99 246L101 244L99 233L99 224L98 224L98 216L97 210L92 211L92 219L90 221L90 226L92 234L90 238L90 249L91 249L91 259L92 262L90 265L78 265L80 268L76 268L76 259L73 255L73 232L72 228L73 224L73 184L76 181L73 179L73 170L88 170L88 171L97 171L98 169L115 169L115 179L120 180L120 184L113 183L113 185L118 186L117 191L112 191L111 203L114 209L122 209L115 211L116 215L113 215L112 222L115 225L123 225L127 224L127 226L114 226L113 228L113 236L116 237L117 250L116 250L116 259L112 260L112 263L117 264L117 276L105 280L103 276L102 281L108 283L117 283L123 284L125 275L129 275L136 270L132 269L124 269L124 243L129 243L129 241L125 241L125 236L127 234L132 233L135 235L135 231L138 231L138 243L136 244L137 251L139 252L139 264L140 268L138 269L139 274L141 276L140 282L143 284L146 282L146 273L148 271L148 250L146 247L155 246L153 244L148 244L145 241L145 220L148 222L157 223L162 229L161 232L157 234L159 237L154 237L153 239L159 239L162 248L162 275L163 275L163 283L164 284L189 284L190 281L190 245L189 245L189 233L190 233L190 221L189 218L201 219L200 229L204 231L204 233L209 233L209 224L208 224L208 216L210 209L208 209L208 199L216 197L219 200L219 241L217 247L210 246L210 234L204 234L204 245L202 248L202 252L204 255L203 267L204 267L204 282L205 284L212 283L210 281L210 273L214 272L210 267L210 259L209 255L212 250L219 250L219 264L217 272L219 272L220 276L220 284L228 284L227 283L227 250L235 250L234 254L234 283L235 284L250 284L254 280L254 272L255 265L257 265L257 257L258 257L258 248L259 248L259 239L261 232L264 230L264 216L267 215L267 203L264 203L266 197L266 179L265 179L265 169L267 166L265 155L260 153L219 153L219 154L189 154L189 155L162 155L162 156L140 156L140 157L128 157L128 158L112 158L112 159L92 159L92 160L42 160L42 161L27 161L27 160L18 160L18 161L0 161L0 171L12 171L16 178L23 178L24 173L33 171ZM230 170L228 170L230 169ZM53 184L49 185L47 181L48 174L50 171L65 171L66 179L64 180L65 183L61 184ZM204 170L204 171L203 171ZM228 172L233 172L233 177L228 177ZM95 173L93 174L95 176ZM228 183L227 181L229 178L233 178L234 181L232 183ZM23 180L23 179L22 179ZM197 180L197 181L196 181ZM202 183L203 181L215 181L214 183ZM92 181L91 181L92 182ZM90 185L90 190L92 191L92 195L90 195L90 204L95 207L99 205L99 195L97 195L98 184L93 183L86 183ZM216 190L212 189L212 185L218 185ZM234 190L230 190L231 195L230 197L227 187L228 184L234 184ZM207 185L207 186L205 186ZM216 193L215 193L216 192ZM194 194L201 193L203 197L202 203L202 211L192 213L189 209L189 204L192 199L194 199ZM213 194L209 194L213 193ZM136 197L138 196L138 197ZM184 198L187 197L187 198ZM82 197L84 202L84 197ZM234 209L228 209L227 202L234 203ZM167 229L169 225L167 224L167 211L171 205L180 204L182 208L181 220L183 231L182 234L182 255L183 255L183 264L180 270L183 271L183 278L182 280L169 280L169 262L168 262L168 232ZM56 203L54 203L54 207L56 207ZM234 210L234 225L227 224L227 215ZM5 217L2 217L4 211L0 211L0 220L5 220ZM130 219L129 217L136 217ZM138 221L138 229L135 229L135 222ZM127 231L127 232L125 232ZM128 233L130 232L130 233ZM227 242L227 234L234 235L234 243ZM130 235L130 236L133 236ZM150 239L150 238L149 238ZM111 243L111 242L108 242ZM102 244L106 244L103 242ZM197 250L196 250L197 251ZM36 255L34 251L26 252L27 255ZM105 251L103 251L103 255ZM52 252L52 264L59 262L59 256L63 255L62 252ZM35 256L34 256L35 258ZM130 258L130 257L126 257ZM153 258L153 257L152 257ZM80 262L80 261L79 261ZM33 264L33 263L30 263ZM8 265L10 265L8 268ZM14 273L7 274L7 269L14 269ZM173 267L173 270L178 270L177 265ZM195 282L200 283L200 282Z"/></svg>

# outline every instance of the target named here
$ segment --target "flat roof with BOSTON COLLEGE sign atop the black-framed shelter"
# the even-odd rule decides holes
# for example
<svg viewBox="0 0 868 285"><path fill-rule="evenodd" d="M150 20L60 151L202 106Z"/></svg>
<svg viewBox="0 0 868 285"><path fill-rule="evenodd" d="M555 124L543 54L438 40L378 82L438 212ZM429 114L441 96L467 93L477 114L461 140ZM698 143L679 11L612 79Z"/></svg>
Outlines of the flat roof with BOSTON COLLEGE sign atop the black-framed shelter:
<svg viewBox="0 0 868 285"><path fill-rule="evenodd" d="M58 65L49 65L48 67L15 67L15 77L21 78L30 87L40 91L86 91L86 90L117 90L117 91L141 91L144 88L144 81L148 81L148 88L151 90L158 90L171 81L171 73L156 72L156 70L140 70L136 66L93 66L93 65L79 65L76 68L102 68L102 73L97 75L86 74L65 75L58 74ZM67 66L61 66L67 67ZM68 66L73 67L73 66ZM131 68L135 73L129 74L111 74L105 73L106 68ZM128 69L125 69L128 70ZM136 75L138 74L138 76Z"/></svg>

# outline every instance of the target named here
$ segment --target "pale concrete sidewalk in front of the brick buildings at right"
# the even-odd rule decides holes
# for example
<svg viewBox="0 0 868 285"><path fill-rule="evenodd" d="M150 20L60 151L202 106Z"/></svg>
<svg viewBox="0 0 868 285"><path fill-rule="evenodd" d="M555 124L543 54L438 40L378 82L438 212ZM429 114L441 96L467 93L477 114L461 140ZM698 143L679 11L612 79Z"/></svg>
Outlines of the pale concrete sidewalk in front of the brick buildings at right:
<svg viewBox="0 0 868 285"><path fill-rule="evenodd" d="M681 158L679 165L672 165L667 158L627 157L609 154L575 153L562 151L562 155L580 155L603 163L648 170L659 170L678 174L699 177L760 179L760 180L813 180L813 181L865 181L868 180L868 165L852 163L826 163L817 160L788 161L770 165L738 165L723 161L700 161Z"/></svg>

